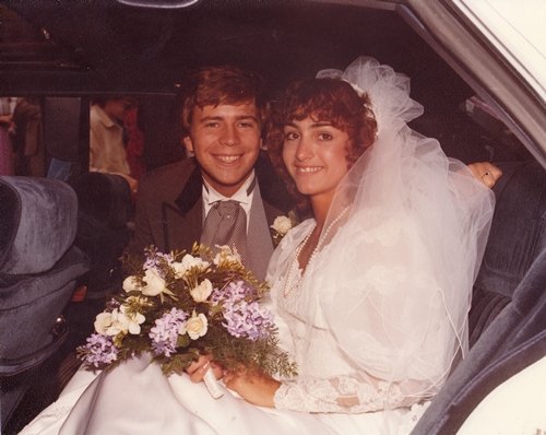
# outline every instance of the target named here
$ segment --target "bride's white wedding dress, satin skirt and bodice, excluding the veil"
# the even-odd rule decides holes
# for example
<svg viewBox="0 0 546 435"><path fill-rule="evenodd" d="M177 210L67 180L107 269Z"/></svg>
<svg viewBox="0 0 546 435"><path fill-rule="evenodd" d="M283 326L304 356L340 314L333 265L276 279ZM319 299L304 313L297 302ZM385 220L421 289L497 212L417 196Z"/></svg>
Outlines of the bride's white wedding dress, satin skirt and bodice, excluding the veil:
<svg viewBox="0 0 546 435"><path fill-rule="evenodd" d="M306 221L293 230L280 251L294 252L311 225L312 221ZM318 307L311 308L318 302L310 292L313 279L307 277L312 277L311 270L289 298L283 296L284 281L272 289L272 298L278 301L287 318L285 324L276 316L282 348L294 352L301 375L300 381L284 384L277 393L277 405L286 410L254 407L227 389L222 398L213 399L204 384L192 384L187 375L166 377L157 364L151 364L150 355L143 355L109 373L82 367L57 402L22 434L379 434L385 424L381 412L347 413L351 409L336 404L346 386L366 385L355 377L357 368L329 334L325 319L314 309ZM301 334L308 322L317 328L318 336L302 358ZM314 364L306 365L308 358ZM307 375L316 380L310 381ZM382 392L367 387L359 388L358 397L365 395L371 402L381 403ZM413 411L390 412L389 419L402 425L400 432L391 433L410 433L423 405Z"/></svg>

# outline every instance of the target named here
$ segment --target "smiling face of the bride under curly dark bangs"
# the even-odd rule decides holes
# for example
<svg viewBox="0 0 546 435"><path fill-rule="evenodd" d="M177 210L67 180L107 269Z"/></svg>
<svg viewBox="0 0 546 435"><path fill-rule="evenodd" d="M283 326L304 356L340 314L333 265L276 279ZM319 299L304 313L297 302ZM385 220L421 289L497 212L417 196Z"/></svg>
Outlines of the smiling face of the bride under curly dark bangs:
<svg viewBox="0 0 546 435"><path fill-rule="evenodd" d="M298 190L331 201L348 171L349 142L345 131L311 117L285 126L283 160Z"/></svg>

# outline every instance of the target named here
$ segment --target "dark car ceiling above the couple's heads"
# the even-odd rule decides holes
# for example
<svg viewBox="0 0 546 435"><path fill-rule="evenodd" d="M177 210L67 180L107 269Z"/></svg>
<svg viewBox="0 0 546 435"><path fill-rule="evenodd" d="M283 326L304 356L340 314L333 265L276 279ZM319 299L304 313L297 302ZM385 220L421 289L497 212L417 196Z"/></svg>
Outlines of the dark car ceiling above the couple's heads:
<svg viewBox="0 0 546 435"><path fill-rule="evenodd" d="M446 83L451 87L446 94L451 94L455 81L461 82L461 94L470 93L390 11L305 1L204 0L181 10L115 1L3 3L45 28L63 56L62 67L52 69L52 74L40 71L45 79L25 83L20 75L19 83L28 89L171 92L190 68L232 63L257 70L273 90L280 90L295 79L323 68L343 69L357 56L368 55L412 77L415 92L423 87L419 82L436 83L439 92ZM71 74L74 66L79 74ZM10 68L14 73L28 71L25 66ZM55 83L55 73L62 77L63 71L79 80Z"/></svg>

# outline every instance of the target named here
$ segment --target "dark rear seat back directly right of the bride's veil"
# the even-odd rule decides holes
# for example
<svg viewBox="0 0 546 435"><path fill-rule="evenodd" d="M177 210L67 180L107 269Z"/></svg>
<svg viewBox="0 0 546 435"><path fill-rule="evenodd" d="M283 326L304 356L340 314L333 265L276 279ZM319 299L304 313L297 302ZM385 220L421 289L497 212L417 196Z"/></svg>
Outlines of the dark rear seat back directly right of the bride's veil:
<svg viewBox="0 0 546 435"><path fill-rule="evenodd" d="M471 348L512 295L546 244L546 176L536 162L499 164L491 233L475 282L470 313Z"/></svg>

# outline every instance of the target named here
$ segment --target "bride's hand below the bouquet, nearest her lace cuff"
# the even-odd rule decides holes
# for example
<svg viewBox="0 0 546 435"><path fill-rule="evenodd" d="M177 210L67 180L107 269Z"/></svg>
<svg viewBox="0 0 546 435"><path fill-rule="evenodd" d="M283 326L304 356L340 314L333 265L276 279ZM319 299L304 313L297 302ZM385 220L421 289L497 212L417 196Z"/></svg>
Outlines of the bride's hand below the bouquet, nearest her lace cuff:
<svg viewBox="0 0 546 435"><path fill-rule="evenodd" d="M241 367L238 372L224 369L224 384L238 392L248 402L258 407L275 408L274 396L281 383L263 372L249 372Z"/></svg>

